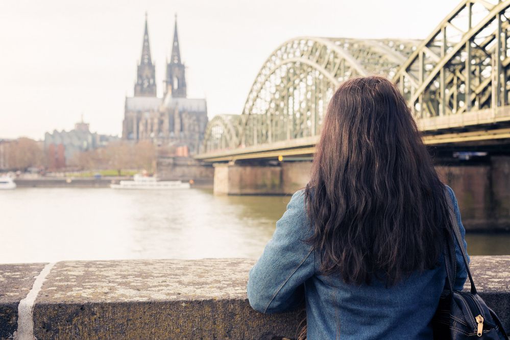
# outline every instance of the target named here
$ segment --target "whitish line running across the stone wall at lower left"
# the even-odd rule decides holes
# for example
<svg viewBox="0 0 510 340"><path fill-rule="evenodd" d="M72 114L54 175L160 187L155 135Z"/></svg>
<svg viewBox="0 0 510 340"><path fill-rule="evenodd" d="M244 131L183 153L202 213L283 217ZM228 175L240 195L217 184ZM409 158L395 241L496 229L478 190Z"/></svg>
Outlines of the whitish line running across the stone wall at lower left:
<svg viewBox="0 0 510 340"><path fill-rule="evenodd" d="M14 340L34 340L34 303L39 294L42 283L46 276L50 274L56 262L48 263L42 271L35 277L34 285L30 289L27 297L19 301L18 305L18 330L14 332Z"/></svg>

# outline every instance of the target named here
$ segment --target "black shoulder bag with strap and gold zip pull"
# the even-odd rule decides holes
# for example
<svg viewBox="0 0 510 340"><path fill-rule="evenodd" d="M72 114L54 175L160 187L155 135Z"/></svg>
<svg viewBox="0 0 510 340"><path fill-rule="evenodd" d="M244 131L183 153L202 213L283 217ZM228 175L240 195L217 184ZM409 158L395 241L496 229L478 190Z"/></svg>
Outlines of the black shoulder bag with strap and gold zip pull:
<svg viewBox="0 0 510 340"><path fill-rule="evenodd" d="M439 301L438 309L432 319L434 339L497 339L507 340L501 321L496 313L489 308L476 293L475 284L469 271L468 259L464 250L462 236L458 230L450 195L446 192L449 203L450 219L453 230L446 233L446 242L443 255L446 265L446 282ZM454 242L462 251L464 264L471 282L471 291L459 292L453 290L456 276L456 259Z"/></svg>

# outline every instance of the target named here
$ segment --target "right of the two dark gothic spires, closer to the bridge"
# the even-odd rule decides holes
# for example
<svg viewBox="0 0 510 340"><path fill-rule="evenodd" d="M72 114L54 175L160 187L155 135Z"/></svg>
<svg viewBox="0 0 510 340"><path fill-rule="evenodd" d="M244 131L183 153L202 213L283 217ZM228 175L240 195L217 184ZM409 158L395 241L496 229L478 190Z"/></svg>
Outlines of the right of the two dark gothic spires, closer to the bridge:
<svg viewBox="0 0 510 340"><path fill-rule="evenodd" d="M171 93L174 98L186 98L185 66L181 63L179 38L177 36L177 14L175 15L174 41L170 62L166 64L165 94Z"/></svg>

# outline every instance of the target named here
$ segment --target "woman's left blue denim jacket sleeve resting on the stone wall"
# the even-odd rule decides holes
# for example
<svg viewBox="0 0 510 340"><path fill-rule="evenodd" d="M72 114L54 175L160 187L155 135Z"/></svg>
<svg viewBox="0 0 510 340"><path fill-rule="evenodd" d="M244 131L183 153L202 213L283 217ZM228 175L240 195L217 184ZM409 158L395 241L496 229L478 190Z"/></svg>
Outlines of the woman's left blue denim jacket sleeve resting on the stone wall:
<svg viewBox="0 0 510 340"><path fill-rule="evenodd" d="M287 211L276 223L273 238L250 270L248 300L262 313L298 307L303 301L303 283L313 276L313 248L304 240L311 235L304 191L296 192Z"/></svg>

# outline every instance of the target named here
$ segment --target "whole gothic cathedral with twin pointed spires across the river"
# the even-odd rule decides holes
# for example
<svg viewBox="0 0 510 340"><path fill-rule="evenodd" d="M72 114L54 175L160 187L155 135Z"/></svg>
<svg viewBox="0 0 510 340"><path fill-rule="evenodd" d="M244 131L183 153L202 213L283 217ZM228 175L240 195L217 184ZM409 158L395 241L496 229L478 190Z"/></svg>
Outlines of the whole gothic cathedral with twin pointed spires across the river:
<svg viewBox="0 0 510 340"><path fill-rule="evenodd" d="M187 147L190 154L198 153L208 122L207 105L205 99L187 98L185 71L179 51L176 17L172 54L166 62L164 94L163 98L158 98L145 15L134 95L126 98L124 108L123 139L151 140L157 145Z"/></svg>

